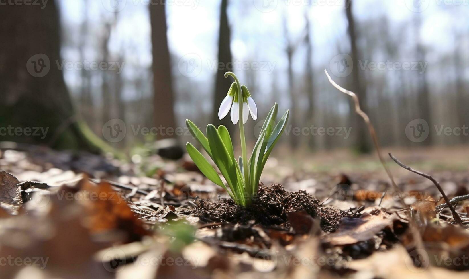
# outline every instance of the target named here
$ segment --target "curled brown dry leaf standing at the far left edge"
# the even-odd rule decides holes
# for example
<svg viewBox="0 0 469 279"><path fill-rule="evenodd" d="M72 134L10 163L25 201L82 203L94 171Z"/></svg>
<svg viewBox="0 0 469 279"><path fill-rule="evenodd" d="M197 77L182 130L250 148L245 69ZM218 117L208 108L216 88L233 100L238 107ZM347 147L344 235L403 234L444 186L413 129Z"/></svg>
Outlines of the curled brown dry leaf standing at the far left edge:
<svg viewBox="0 0 469 279"><path fill-rule="evenodd" d="M17 214L23 200L21 198L21 186L15 176L0 172L0 207L10 214Z"/></svg>

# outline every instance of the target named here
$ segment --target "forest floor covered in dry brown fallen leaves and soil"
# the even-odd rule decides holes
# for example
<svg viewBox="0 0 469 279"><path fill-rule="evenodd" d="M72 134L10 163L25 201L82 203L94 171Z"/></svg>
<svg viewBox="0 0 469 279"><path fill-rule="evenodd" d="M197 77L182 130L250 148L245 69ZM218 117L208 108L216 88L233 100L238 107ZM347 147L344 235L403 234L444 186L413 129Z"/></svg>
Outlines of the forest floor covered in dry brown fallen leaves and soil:
<svg viewBox="0 0 469 279"><path fill-rule="evenodd" d="M390 151L450 199L469 194L464 148ZM282 158L240 209L187 158L1 143L0 277L467 278L468 201L461 226L388 157L399 192L375 154Z"/></svg>

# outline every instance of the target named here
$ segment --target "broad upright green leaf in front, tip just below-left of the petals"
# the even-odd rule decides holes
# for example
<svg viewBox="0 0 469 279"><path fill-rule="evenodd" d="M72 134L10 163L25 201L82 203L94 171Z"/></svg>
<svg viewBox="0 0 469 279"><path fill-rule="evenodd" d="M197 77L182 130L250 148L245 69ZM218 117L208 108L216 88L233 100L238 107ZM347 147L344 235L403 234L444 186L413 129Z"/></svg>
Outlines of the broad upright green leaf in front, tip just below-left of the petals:
<svg viewBox="0 0 469 279"><path fill-rule="evenodd" d="M243 196L243 184L240 179L238 179L236 161L231 157L221 139L217 128L212 124L207 125L207 138L212 151L212 158L215 162L215 165L218 166L221 174L225 177L228 186L233 192L236 199L234 201L236 204L244 205L244 196Z"/></svg>

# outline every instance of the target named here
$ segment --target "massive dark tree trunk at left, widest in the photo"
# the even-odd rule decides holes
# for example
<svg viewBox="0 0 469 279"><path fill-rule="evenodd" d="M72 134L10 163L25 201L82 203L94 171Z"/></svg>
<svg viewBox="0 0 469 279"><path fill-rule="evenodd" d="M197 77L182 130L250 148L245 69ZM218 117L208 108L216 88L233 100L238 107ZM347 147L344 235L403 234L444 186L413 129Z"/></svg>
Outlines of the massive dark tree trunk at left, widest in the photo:
<svg viewBox="0 0 469 279"><path fill-rule="evenodd" d="M60 20L55 1L45 7L0 9L0 127L47 129L45 137L7 133L2 140L98 151L76 121L60 70ZM29 131L28 133L30 133Z"/></svg>

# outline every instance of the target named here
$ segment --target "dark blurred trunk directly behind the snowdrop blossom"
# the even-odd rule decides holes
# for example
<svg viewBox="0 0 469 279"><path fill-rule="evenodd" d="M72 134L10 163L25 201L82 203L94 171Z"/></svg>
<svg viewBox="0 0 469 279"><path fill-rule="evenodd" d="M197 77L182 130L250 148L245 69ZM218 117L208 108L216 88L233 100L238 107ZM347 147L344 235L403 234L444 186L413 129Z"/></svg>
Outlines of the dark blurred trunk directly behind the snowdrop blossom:
<svg viewBox="0 0 469 279"><path fill-rule="evenodd" d="M231 48L230 40L231 33L230 27L228 24L228 15L227 15L228 0L221 0L220 4L220 26L218 31L218 64L229 65L231 62ZM231 71L232 69L227 69L226 67L218 67L215 77L215 91L213 92L213 119L212 123L218 123L219 125L224 125L227 127L230 134L232 134L234 126L231 125L231 120L229 113L222 119L218 119L218 109L220 107L221 101L227 95L228 88L230 87L233 80L231 78L225 78L225 72ZM249 87L248 87L249 88Z"/></svg>

